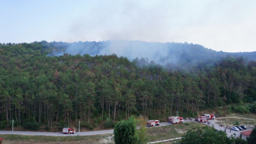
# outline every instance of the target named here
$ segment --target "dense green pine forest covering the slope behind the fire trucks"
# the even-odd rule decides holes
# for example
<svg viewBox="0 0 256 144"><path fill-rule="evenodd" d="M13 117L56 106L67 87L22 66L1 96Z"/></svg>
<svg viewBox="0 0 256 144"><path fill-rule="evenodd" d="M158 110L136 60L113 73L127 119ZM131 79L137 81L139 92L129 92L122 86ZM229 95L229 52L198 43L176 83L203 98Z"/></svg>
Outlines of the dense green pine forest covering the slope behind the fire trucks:
<svg viewBox="0 0 256 144"><path fill-rule="evenodd" d="M166 120L176 111L193 116L205 108L256 101L256 62L248 58L162 66L116 54L54 56L66 49L66 43L55 43L0 44L1 126L12 119L17 125L33 120L52 126L134 114Z"/></svg>

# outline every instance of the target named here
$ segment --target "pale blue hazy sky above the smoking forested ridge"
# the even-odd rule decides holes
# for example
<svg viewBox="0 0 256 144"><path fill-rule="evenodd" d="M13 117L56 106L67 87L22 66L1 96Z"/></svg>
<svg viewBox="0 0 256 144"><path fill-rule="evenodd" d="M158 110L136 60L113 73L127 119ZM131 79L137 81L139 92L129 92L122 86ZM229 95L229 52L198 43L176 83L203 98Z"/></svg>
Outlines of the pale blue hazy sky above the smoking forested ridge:
<svg viewBox="0 0 256 144"><path fill-rule="evenodd" d="M141 40L256 51L255 0L0 0L0 43Z"/></svg>

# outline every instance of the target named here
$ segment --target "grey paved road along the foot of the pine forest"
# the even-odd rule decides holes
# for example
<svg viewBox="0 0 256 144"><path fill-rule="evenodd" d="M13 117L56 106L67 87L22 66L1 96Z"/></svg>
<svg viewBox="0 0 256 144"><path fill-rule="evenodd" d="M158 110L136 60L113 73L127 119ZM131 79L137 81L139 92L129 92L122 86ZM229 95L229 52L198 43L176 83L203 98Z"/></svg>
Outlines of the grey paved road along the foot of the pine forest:
<svg viewBox="0 0 256 144"><path fill-rule="evenodd" d="M185 122L195 122L194 120L184 120ZM224 127L220 127L219 125L215 124L215 122L218 122L218 120L209 120L211 122L212 126L214 124L214 128L219 129L219 130L223 130L224 131ZM207 122L204 123L207 125ZM160 124L160 126L156 126L156 127L161 127L161 126L166 126L166 125L171 125L171 123L169 122L162 122ZM154 128L154 127L150 127L150 128ZM247 130L251 130L252 127L247 127L246 130L243 131L247 131ZM96 135L96 134L112 134L114 132L113 129L110 130L101 130L101 131L89 131L89 132L80 132L80 134L78 132L76 132L76 134L62 134L62 133L50 133L50 132L29 132L29 131L0 131L0 134L20 134L20 135L45 135L45 136L77 136L77 135ZM226 130L226 133L228 134L228 137L231 136L231 134L234 135L234 133L236 134L236 136L240 135L240 132L242 131L234 131L231 130L230 133L230 129Z"/></svg>

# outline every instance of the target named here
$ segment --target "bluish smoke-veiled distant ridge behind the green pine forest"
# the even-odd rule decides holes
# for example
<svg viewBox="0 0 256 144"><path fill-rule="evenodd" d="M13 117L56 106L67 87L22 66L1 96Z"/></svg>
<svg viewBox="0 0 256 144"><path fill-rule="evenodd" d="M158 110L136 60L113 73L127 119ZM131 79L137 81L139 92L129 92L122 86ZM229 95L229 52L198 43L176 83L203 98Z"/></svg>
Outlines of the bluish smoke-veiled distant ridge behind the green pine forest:
<svg viewBox="0 0 256 144"><path fill-rule="evenodd" d="M103 42L75 42L62 43L52 42L43 43L45 47L51 47L51 55L63 55L68 53L71 55L110 55L116 54L118 57L127 57L129 60L135 58L144 58L146 61L153 61L161 65L197 65L201 63L215 64L216 61L226 57L243 57L246 62L256 60L255 52L217 52L204 48L202 45L194 45L188 43L155 43L143 41L103 41Z"/></svg>

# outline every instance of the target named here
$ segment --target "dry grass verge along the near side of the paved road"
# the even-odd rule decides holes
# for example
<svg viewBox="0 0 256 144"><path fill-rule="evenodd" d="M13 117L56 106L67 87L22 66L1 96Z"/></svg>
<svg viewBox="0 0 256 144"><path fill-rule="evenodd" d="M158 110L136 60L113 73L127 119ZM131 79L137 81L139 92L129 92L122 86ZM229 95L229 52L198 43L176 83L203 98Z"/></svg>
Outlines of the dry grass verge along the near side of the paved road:
<svg viewBox="0 0 256 144"><path fill-rule="evenodd" d="M147 129L148 142L166 140L176 137L181 137L189 129L196 127L203 127L204 124L190 122L186 125L168 125L163 127L150 127ZM57 136L28 136L28 135L0 135L4 138L4 144L80 144L80 143L93 143L93 144L113 144L113 134L101 134L92 136L70 136L70 137L57 137ZM170 142L167 142L170 143Z"/></svg>

